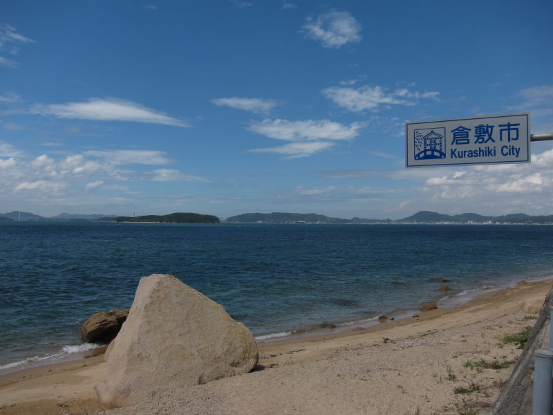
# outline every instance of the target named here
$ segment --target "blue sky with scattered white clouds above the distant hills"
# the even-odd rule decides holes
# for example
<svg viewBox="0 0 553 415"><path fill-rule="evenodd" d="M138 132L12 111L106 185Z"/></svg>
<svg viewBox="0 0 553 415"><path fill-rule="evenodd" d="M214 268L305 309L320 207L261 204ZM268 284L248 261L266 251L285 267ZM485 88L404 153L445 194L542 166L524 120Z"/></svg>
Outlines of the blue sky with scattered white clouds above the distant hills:
<svg viewBox="0 0 553 415"><path fill-rule="evenodd" d="M2 1L0 212L553 214L532 163L404 168L404 122L553 132L553 2Z"/></svg>

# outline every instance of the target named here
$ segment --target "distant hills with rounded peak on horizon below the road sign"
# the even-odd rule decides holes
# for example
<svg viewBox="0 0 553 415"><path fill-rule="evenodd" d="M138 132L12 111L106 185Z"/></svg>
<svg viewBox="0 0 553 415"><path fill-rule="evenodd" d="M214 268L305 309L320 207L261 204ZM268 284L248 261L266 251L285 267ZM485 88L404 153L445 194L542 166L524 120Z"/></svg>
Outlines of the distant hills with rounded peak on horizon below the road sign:
<svg viewBox="0 0 553 415"><path fill-rule="evenodd" d="M429 212L421 210L404 219L399 219L397 223L435 223L435 222L501 222L501 223L553 223L553 215L549 216L529 216L523 213L512 213L502 216L482 216L477 213L462 213L462 214L441 214L437 212Z"/></svg>

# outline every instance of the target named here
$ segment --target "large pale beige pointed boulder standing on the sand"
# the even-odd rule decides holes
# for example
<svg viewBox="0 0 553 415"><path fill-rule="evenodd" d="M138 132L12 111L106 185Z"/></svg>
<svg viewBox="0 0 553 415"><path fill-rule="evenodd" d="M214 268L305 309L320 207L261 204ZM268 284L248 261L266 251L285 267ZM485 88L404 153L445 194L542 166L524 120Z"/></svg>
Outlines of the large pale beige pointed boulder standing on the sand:
<svg viewBox="0 0 553 415"><path fill-rule="evenodd" d="M254 336L223 306L171 275L153 274L140 279L95 389L109 407L133 405L156 389L242 374L257 361Z"/></svg>

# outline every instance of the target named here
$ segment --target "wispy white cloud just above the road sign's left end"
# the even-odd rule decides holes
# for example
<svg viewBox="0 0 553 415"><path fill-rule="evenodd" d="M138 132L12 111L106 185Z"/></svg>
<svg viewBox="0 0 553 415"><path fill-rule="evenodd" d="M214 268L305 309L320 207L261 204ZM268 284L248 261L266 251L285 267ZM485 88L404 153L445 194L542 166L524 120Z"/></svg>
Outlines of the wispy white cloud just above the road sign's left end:
<svg viewBox="0 0 553 415"><path fill-rule="evenodd" d="M359 112L366 109L377 111L381 105L415 105L419 100L436 100L439 93L436 91L418 92L406 88L388 92L382 86L364 85L359 88L349 86L331 86L322 91L326 98L334 101L339 107L349 111Z"/></svg>

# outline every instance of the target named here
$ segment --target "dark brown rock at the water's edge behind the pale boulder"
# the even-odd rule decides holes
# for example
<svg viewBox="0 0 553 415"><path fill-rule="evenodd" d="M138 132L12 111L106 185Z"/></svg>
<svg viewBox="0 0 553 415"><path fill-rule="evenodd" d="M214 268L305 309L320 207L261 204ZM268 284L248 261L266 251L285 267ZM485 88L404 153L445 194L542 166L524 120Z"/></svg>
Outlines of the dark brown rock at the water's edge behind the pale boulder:
<svg viewBox="0 0 553 415"><path fill-rule="evenodd" d="M111 342L119 333L127 315L129 315L129 308L96 313L82 324L82 341L106 344Z"/></svg>

